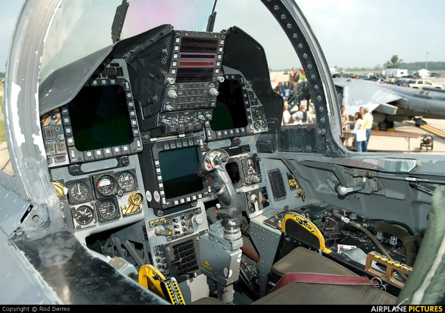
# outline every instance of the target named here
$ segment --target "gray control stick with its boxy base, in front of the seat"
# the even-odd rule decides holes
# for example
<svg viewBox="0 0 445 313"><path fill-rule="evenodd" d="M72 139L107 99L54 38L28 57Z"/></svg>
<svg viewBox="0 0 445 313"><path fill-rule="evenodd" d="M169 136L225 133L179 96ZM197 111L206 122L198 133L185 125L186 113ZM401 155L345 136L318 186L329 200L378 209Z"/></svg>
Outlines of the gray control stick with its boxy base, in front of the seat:
<svg viewBox="0 0 445 313"><path fill-rule="evenodd" d="M241 260L241 201L232 180L225 170L229 154L223 149L211 149L202 157L197 175L212 180L218 196L219 220L209 226L209 233L200 236L201 271L209 282L216 282L216 294L220 300L233 304L234 282L239 278ZM212 284L213 286L213 284Z"/></svg>

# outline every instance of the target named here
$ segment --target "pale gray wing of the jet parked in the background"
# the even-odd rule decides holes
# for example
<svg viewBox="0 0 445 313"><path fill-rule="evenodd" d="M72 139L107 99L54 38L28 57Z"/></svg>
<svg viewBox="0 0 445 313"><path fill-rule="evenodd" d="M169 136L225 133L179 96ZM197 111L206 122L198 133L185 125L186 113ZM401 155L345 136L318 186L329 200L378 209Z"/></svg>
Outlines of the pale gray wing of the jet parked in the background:
<svg viewBox="0 0 445 313"><path fill-rule="evenodd" d="M375 81L335 78L334 85L337 95L341 94L339 101L350 115L358 112L360 106L367 106L369 111L396 115L398 106L391 103L405 99Z"/></svg>

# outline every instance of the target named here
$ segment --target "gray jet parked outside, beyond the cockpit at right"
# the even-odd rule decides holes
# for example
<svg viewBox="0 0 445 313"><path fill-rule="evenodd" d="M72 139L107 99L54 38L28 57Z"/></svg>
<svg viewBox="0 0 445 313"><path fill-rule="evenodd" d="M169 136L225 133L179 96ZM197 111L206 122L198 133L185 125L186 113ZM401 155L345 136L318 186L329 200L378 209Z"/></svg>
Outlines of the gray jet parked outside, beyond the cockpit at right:
<svg viewBox="0 0 445 313"><path fill-rule="evenodd" d="M363 79L333 80L346 112L354 115L360 106L368 106L380 129L392 128L394 122L413 118L445 118L443 90L406 88Z"/></svg>

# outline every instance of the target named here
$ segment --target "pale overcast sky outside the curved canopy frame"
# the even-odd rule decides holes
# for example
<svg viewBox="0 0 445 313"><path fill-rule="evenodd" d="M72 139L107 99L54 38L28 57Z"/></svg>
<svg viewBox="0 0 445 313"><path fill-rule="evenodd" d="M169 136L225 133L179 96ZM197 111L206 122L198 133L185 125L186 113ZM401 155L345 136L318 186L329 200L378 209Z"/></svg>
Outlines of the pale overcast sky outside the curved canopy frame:
<svg viewBox="0 0 445 313"><path fill-rule="evenodd" d="M312 26L330 67L381 66L393 55L407 63L426 62L427 58L445 61L444 0L296 2ZM0 3L0 72L4 72L11 36L24 1L0 0ZM280 62L269 65L289 67L286 60Z"/></svg>

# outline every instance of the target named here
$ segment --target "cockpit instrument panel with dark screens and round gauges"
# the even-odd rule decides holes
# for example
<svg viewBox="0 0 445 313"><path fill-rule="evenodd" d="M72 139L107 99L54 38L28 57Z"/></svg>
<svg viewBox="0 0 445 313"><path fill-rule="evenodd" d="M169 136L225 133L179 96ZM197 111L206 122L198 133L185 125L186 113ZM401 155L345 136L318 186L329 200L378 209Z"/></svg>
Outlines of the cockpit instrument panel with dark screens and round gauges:
<svg viewBox="0 0 445 313"><path fill-rule="evenodd" d="M51 177L66 187L65 220L80 237L141 221L162 250L207 229L204 202L215 195L197 167L211 143L229 153L248 214L267 207L254 141L239 139L268 131L266 110L245 75L224 65L226 36L174 30L131 60L107 58L42 115ZM177 224L176 215L187 217Z"/></svg>

